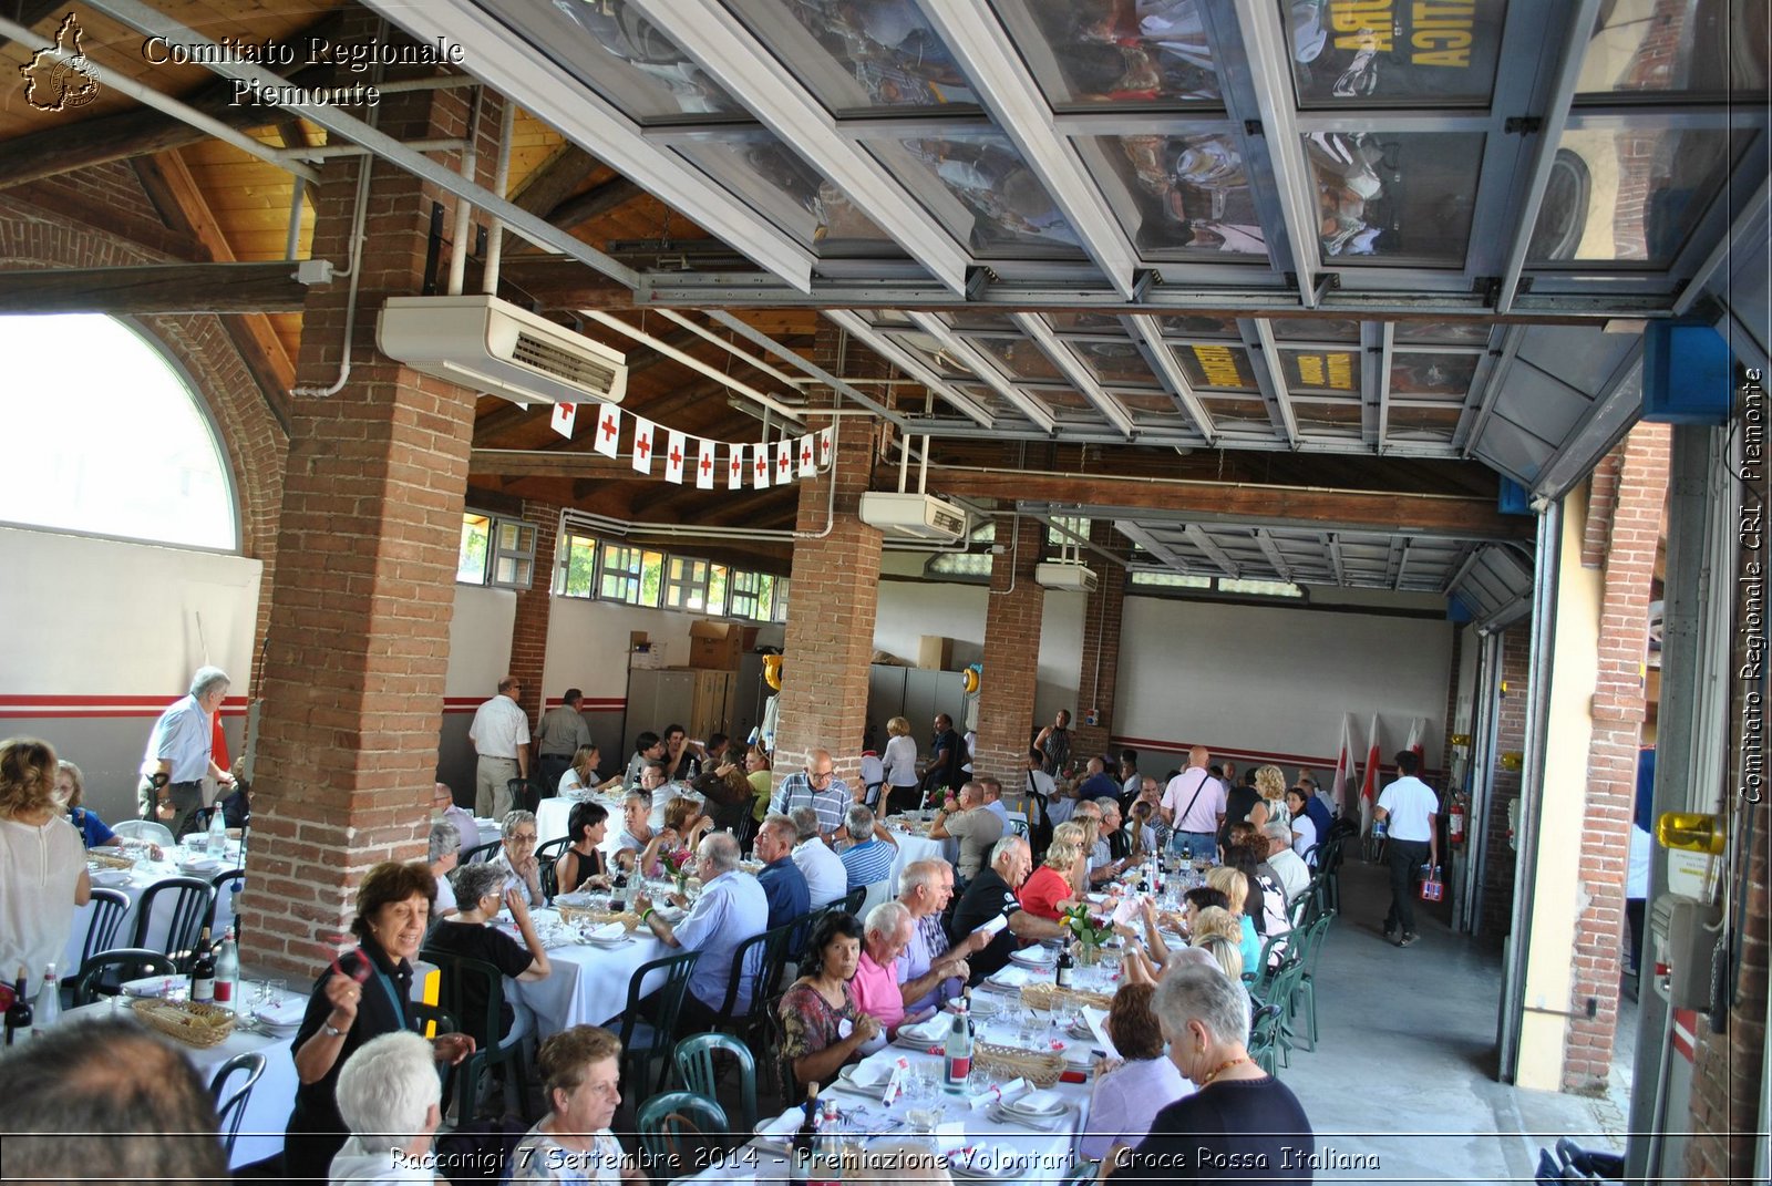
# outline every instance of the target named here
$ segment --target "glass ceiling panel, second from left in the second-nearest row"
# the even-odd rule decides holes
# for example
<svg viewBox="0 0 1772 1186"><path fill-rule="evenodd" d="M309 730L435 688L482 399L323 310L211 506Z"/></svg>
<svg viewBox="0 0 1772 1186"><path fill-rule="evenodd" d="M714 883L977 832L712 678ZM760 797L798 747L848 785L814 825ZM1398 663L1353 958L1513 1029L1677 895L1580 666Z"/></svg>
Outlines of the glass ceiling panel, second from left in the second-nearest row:
<svg viewBox="0 0 1772 1186"><path fill-rule="evenodd" d="M975 255L1083 255L1076 229L999 131L868 140L868 149Z"/></svg>

